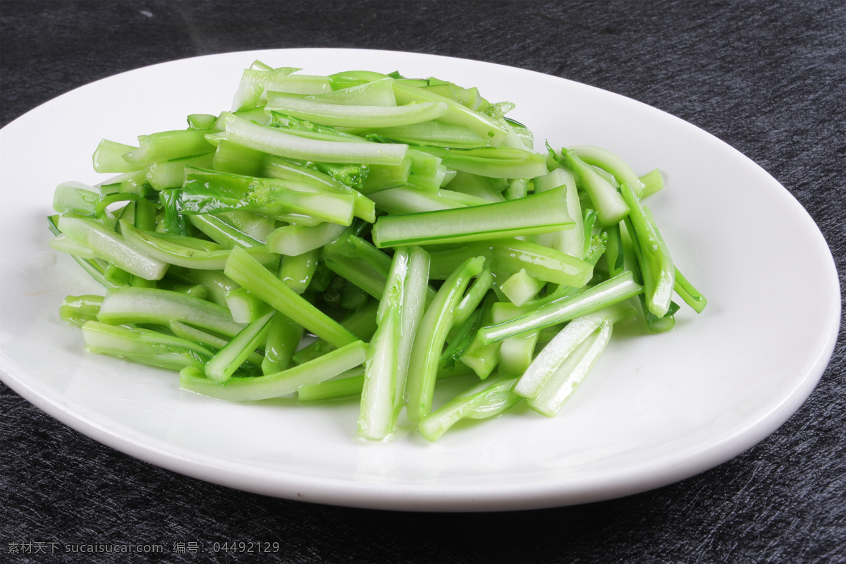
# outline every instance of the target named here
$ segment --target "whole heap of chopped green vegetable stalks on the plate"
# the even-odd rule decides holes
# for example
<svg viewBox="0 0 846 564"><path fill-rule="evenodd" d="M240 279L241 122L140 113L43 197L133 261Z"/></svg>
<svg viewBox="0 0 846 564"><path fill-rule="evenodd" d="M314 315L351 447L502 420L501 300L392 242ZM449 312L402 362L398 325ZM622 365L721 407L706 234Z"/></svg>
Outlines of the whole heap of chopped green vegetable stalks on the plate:
<svg viewBox="0 0 846 564"><path fill-rule="evenodd" d="M230 112L102 140L118 176L58 186L50 246L106 287L60 308L88 351L227 401L360 397L372 441L404 408L434 441L523 401L554 416L614 325L705 307L642 204L657 170L536 151L475 88L298 71L255 62Z"/></svg>

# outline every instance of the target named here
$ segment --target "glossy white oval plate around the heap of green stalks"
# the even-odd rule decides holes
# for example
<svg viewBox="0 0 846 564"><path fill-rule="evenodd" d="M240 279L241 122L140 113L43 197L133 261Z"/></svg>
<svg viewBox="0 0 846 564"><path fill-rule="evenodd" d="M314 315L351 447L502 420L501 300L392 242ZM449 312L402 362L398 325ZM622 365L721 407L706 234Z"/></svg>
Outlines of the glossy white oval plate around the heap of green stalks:
<svg viewBox="0 0 846 564"><path fill-rule="evenodd" d="M309 74L353 68L476 85L553 146L601 145L667 189L648 204L679 268L710 304L658 336L620 326L556 419L517 409L416 435L354 440L357 405L228 404L177 377L83 352L58 320L69 293L102 293L47 247L44 216L67 180L96 183L105 137L184 128L228 109L261 58ZM0 375L97 441L182 474L270 496L357 507L492 510L633 494L716 466L761 441L808 397L831 357L840 297L810 216L748 158L689 123L590 86L489 63L398 52L298 49L197 57L118 74L10 123L2 140ZM15 241L15 244L9 244ZM801 288L802 292L796 292Z"/></svg>

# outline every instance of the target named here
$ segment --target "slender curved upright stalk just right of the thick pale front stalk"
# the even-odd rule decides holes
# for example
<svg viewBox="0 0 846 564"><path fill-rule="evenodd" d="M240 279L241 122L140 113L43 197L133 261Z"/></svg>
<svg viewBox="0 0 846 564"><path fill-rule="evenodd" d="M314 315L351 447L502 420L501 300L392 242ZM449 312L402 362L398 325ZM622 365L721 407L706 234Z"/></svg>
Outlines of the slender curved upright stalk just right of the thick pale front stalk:
<svg viewBox="0 0 846 564"><path fill-rule="evenodd" d="M464 295L464 288L470 279L478 276L484 264L484 257L465 260L443 283L420 321L411 349L406 382L407 411L409 420L413 422L419 422L431 411L437 367L443 343L453 324L453 310Z"/></svg>

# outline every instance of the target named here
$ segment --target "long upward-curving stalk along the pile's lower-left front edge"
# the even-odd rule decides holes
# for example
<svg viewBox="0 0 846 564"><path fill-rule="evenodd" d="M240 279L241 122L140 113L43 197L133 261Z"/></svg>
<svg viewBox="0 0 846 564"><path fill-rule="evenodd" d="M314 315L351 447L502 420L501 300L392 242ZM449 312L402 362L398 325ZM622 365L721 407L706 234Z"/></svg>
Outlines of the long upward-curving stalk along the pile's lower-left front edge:
<svg viewBox="0 0 846 564"><path fill-rule="evenodd" d="M327 381L358 366L365 361L366 352L365 342L354 341L319 359L281 372L252 378L236 376L229 378L224 384L183 373L179 377L179 386L188 392L196 392L228 402L252 402L283 397L296 392L299 386Z"/></svg>

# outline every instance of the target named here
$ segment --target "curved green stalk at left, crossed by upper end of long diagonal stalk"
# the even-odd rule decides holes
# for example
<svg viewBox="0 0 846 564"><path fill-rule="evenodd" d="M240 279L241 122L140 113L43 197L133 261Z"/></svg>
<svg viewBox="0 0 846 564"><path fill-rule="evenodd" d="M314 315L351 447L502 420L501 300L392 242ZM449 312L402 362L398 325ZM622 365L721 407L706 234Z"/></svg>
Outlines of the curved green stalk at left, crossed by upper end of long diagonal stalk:
<svg viewBox="0 0 846 564"><path fill-rule="evenodd" d="M210 250L208 242L201 239L171 238L164 233L145 233L126 220L120 221L120 229L126 242L135 249L171 265L203 271L219 271L226 266L228 256L232 252L232 249L221 249L217 244L214 244L217 249ZM244 252L262 264L276 259L276 256L263 246L250 247Z"/></svg>

